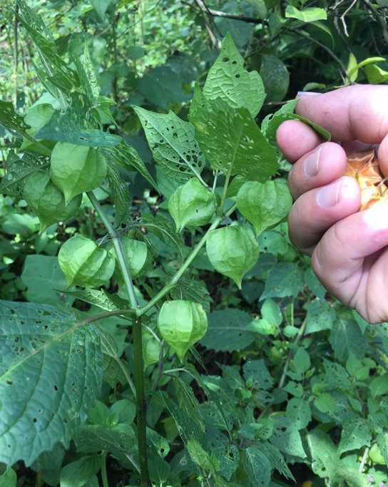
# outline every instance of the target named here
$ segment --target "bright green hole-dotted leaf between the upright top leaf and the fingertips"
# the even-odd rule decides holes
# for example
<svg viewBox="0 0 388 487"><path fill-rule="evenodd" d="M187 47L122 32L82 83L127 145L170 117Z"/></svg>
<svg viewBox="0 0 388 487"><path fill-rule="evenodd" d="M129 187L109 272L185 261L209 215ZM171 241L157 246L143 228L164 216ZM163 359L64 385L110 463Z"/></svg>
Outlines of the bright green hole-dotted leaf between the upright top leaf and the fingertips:
<svg viewBox="0 0 388 487"><path fill-rule="evenodd" d="M232 108L221 98L207 101L195 86L189 119L213 169L261 183L276 173L275 149L246 108Z"/></svg>

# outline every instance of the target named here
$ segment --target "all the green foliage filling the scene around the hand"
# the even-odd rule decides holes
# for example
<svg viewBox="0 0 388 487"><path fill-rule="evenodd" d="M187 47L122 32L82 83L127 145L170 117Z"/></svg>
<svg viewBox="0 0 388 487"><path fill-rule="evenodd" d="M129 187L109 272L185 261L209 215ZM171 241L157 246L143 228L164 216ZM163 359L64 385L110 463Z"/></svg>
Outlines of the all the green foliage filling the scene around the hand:
<svg viewBox="0 0 388 487"><path fill-rule="evenodd" d="M276 143L387 81L386 5L200 4L0 11L1 487L388 482L388 325L290 244Z"/></svg>

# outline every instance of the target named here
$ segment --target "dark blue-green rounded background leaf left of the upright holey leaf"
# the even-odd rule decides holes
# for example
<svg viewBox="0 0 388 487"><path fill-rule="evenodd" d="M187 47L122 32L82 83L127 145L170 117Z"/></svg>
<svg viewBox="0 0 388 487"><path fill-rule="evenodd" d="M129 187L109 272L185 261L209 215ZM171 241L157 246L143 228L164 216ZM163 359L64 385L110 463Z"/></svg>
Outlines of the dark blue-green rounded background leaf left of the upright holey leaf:
<svg viewBox="0 0 388 487"><path fill-rule="evenodd" d="M138 91L154 105L167 110L169 103L185 103L190 100L183 93L182 83L183 80L170 67L158 66L150 69L138 81Z"/></svg>

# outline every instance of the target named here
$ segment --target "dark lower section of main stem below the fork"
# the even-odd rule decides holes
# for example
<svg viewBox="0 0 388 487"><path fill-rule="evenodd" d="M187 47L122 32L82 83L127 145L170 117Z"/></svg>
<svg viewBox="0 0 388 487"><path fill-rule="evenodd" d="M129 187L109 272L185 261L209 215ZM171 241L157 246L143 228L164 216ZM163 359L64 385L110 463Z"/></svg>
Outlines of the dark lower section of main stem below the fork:
<svg viewBox="0 0 388 487"><path fill-rule="evenodd" d="M150 477L148 474L147 461L147 404L146 394L144 394L144 364L143 364L143 346L142 346L142 330L141 317L133 317L132 319L133 332L133 354L135 357L135 387L136 387L136 424L138 429L138 451L140 463L141 486L148 487Z"/></svg>

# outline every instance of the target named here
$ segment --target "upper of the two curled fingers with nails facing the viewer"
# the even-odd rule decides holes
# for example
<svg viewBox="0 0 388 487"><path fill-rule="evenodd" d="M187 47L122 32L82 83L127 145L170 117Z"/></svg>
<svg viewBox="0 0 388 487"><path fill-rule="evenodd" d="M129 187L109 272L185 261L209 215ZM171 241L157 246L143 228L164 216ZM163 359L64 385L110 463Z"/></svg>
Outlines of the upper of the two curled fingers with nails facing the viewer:
<svg viewBox="0 0 388 487"><path fill-rule="evenodd" d="M310 176L306 168L306 160L312 154L315 154L317 158L317 174ZM332 142L318 145L315 150L305 154L292 166L288 175L288 186L292 196L299 198L306 191L330 184L341 178L346 170L346 162L346 154L340 145Z"/></svg>

